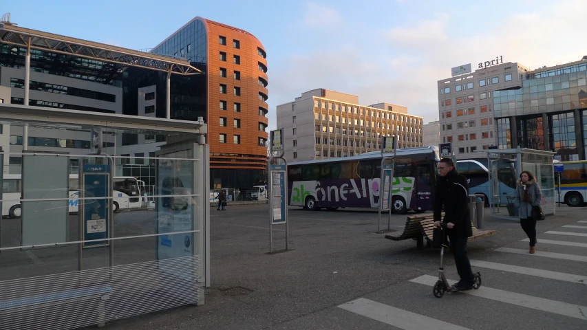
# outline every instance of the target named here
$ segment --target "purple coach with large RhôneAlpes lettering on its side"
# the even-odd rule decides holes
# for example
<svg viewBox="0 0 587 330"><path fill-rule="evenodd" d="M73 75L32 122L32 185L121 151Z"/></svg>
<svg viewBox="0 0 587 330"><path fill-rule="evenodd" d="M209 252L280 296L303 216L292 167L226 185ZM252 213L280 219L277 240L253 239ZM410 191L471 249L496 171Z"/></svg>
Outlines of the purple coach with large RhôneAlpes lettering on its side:
<svg viewBox="0 0 587 330"><path fill-rule="evenodd" d="M392 212L432 210L440 161L438 147L398 149ZM381 152L288 164L288 205L305 210L378 208Z"/></svg>

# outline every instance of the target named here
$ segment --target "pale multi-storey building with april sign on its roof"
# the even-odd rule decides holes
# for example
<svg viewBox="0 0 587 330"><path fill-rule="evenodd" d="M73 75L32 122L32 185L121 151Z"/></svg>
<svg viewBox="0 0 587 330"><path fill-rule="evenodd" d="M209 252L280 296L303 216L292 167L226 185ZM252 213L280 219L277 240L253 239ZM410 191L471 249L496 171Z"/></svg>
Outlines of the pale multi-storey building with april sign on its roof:
<svg viewBox="0 0 587 330"><path fill-rule="evenodd" d="M500 57L473 66L480 69L438 80L440 143L452 142L458 159L487 157L476 151L497 145L492 91L519 87L530 71Z"/></svg>

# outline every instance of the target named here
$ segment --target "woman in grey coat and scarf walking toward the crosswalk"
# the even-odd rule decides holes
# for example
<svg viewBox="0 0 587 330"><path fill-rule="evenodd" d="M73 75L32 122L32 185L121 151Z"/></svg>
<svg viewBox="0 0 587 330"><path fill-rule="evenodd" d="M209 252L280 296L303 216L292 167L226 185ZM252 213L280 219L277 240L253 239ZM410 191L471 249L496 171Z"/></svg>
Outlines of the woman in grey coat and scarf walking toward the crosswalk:
<svg viewBox="0 0 587 330"><path fill-rule="evenodd" d="M520 214L522 229L530 239L530 253L534 253L536 245L536 220L532 219L532 207L540 206L542 192L536 183L534 175L527 170L520 174L515 188L515 206Z"/></svg>

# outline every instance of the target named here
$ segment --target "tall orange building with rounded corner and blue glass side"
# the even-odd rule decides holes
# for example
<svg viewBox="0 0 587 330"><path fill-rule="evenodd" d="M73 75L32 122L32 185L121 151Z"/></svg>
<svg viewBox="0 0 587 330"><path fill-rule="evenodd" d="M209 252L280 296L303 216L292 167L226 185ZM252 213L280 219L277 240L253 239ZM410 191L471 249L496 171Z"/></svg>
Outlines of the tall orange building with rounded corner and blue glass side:
<svg viewBox="0 0 587 330"><path fill-rule="evenodd" d="M195 17L151 52L186 58L206 73L211 188L252 188L264 179L268 77L262 43L244 30Z"/></svg>

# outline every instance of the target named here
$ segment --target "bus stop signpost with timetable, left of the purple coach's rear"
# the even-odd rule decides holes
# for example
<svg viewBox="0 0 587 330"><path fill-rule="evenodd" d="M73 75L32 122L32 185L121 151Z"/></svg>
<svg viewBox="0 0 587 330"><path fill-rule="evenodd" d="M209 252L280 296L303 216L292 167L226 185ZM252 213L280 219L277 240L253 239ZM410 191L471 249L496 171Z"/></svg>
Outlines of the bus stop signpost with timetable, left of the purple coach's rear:
<svg viewBox="0 0 587 330"><path fill-rule="evenodd" d="M283 146L284 129L269 132L270 156L267 160L269 181L267 192L269 198L269 253L273 253L273 225L286 225L286 251L289 250L289 221L288 221L288 179L287 164L284 158ZM279 155L273 155L277 151ZM272 164L273 159L281 159L282 164Z"/></svg>

